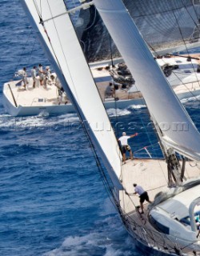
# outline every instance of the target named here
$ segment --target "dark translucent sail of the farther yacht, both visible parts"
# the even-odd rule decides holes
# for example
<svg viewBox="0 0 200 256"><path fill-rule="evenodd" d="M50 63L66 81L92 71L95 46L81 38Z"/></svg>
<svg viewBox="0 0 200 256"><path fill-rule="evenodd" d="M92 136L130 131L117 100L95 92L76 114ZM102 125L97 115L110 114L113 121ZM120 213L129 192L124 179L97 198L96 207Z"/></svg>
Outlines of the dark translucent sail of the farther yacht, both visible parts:
<svg viewBox="0 0 200 256"><path fill-rule="evenodd" d="M198 0L123 0L138 30L154 54L165 54L200 46L200 2ZM74 4L74 2L73 2ZM81 10L77 29L89 62L110 58L110 36L98 12ZM74 24L77 24L74 22ZM112 42L112 55L120 54Z"/></svg>

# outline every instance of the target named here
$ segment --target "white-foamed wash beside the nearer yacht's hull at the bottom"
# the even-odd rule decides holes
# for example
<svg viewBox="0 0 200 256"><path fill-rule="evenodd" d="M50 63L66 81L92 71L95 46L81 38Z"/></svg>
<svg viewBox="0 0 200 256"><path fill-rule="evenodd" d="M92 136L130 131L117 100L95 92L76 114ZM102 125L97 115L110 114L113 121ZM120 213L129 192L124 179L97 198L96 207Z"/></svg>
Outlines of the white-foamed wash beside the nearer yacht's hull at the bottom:
<svg viewBox="0 0 200 256"><path fill-rule="evenodd" d="M43 256L134 256L140 255L130 237L126 237L122 244L118 244L118 237L123 238L126 230L119 225L118 219L106 218L102 222L104 229L101 232L89 230L86 234L69 236L62 246L47 252ZM106 226L106 228L105 228ZM110 232L112 230L112 232Z"/></svg>

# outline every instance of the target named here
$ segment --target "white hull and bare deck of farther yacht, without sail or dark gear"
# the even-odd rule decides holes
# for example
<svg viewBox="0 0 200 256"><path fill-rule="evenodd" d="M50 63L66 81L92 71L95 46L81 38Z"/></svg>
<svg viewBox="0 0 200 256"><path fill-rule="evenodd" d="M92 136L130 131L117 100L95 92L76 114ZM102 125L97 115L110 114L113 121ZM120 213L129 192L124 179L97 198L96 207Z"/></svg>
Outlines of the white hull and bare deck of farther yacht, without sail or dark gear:
<svg viewBox="0 0 200 256"><path fill-rule="evenodd" d="M196 57L196 56L195 56ZM117 59L116 62L120 60ZM196 60L192 62L187 62L185 58L162 58L158 59L159 66L174 65L178 61L178 69L174 70L174 73L170 74L167 78L168 82L174 89L178 98L182 100L183 98L191 98L200 95L200 74L194 72L191 66L195 65L197 67ZM182 62L181 64L179 62ZM110 63L109 63L110 64ZM110 72L105 68L107 62L96 62L90 66L94 81L98 86L99 94L101 95L102 102L106 109L118 108L125 109L131 105L146 105L142 94L138 91L137 82L134 86L131 86L126 90L115 90L114 98L105 98L106 87L112 80ZM188 70L190 71L188 73ZM18 82L6 83L3 88L3 104L5 106L6 112L12 116L27 116L27 115L38 115L42 112L47 114L63 114L63 113L73 113L76 112L74 106L67 101L63 101L60 105L58 104L58 90L55 86L49 86L48 90L45 90L42 86L39 86L39 81L37 81L37 86L33 90L32 79L29 78L29 90L24 90L23 86L16 87L15 84ZM14 99L10 93L10 88L14 94L14 98L17 102L15 106ZM121 87L121 86L119 86ZM88 92L90 94L90 92ZM91 95L92 97L92 95ZM37 100L41 99L41 102Z"/></svg>

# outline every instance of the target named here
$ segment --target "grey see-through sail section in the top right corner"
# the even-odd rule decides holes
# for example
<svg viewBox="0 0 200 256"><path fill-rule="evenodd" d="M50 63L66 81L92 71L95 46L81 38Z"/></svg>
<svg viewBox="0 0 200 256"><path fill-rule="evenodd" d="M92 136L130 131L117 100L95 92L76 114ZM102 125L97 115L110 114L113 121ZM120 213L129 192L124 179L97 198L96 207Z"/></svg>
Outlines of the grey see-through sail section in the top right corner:
<svg viewBox="0 0 200 256"><path fill-rule="evenodd" d="M159 54L199 46L200 3L191 0L124 0L151 50Z"/></svg>

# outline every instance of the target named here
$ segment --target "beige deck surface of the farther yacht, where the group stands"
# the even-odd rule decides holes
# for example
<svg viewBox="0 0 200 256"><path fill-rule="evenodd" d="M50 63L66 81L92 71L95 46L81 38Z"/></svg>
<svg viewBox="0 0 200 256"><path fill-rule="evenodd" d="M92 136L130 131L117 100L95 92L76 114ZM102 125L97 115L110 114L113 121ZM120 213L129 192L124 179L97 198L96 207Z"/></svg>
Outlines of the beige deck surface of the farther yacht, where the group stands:
<svg viewBox="0 0 200 256"><path fill-rule="evenodd" d="M43 86L36 86L33 88L32 81L30 79L30 83L27 86L27 90L24 89L23 86L16 86L18 81L12 81L6 83L4 86L4 94L6 98L11 102L14 106L14 99L17 103L17 106L58 106L58 89L56 86L48 85L45 89ZM99 94L101 95L102 101L106 100L114 100L114 98L105 98L106 87L109 82L99 82L97 84ZM10 85L10 87L8 86ZM186 85L173 86L174 92L178 94L178 98L188 98L188 97L196 97L197 94L200 94L200 83L199 82L190 82ZM11 90L12 93L11 93ZM142 94L138 92L128 92L128 90L115 90L115 98L119 100L130 100L130 99L142 99ZM69 98L63 97L62 102L60 104L64 105L70 103ZM145 104L145 102L144 102Z"/></svg>

